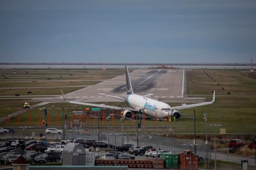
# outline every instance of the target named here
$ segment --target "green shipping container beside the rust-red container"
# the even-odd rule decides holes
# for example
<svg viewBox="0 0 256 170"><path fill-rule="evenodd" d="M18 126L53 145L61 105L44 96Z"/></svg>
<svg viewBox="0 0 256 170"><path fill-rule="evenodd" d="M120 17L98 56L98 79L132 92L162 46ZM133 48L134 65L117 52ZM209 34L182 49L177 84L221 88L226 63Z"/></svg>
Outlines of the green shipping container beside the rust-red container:
<svg viewBox="0 0 256 170"><path fill-rule="evenodd" d="M165 168L179 168L178 154L161 153L160 158L164 160Z"/></svg>

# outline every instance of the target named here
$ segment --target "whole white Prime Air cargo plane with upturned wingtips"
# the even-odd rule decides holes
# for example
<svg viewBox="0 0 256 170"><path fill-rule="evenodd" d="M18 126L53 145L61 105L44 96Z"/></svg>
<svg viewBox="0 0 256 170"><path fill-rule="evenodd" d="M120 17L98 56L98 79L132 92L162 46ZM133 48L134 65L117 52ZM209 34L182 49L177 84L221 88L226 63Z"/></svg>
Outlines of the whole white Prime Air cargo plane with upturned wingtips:
<svg viewBox="0 0 256 170"><path fill-rule="evenodd" d="M69 103L109 108L109 109L114 109L114 110L123 110L123 117L125 119L132 119L133 114L142 114L142 111L144 111L146 116L149 116L153 119L166 119L168 117L169 118L175 117L176 119L179 119L179 118L181 118L181 112L179 112L178 110L202 106L202 105L209 105L215 101L215 91L213 92L212 101L190 104L190 105L181 105L181 106L175 106L175 107L171 107L167 103L157 101L152 98L148 98L148 96L151 96L152 94L146 94L144 96L134 94L132 84L130 81L128 67L125 66L125 69L126 69L126 88L127 88L127 95L125 96L125 98L121 98L118 96L111 96L111 95L107 95L107 94L100 94L100 95L117 98L122 101L125 101L126 104L128 105L128 107L117 107L117 106L111 106L111 105L105 105L105 104L94 104L94 103L83 103L83 102L77 102L77 101L68 101L61 90L63 98L65 101L67 101ZM188 117L190 117L190 116L188 116Z"/></svg>

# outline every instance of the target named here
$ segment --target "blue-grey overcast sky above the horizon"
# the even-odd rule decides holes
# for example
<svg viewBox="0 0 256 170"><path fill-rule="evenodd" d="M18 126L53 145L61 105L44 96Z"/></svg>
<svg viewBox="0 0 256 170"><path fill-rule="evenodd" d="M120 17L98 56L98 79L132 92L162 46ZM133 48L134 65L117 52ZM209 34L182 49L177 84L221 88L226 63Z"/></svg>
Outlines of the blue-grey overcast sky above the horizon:
<svg viewBox="0 0 256 170"><path fill-rule="evenodd" d="M0 0L0 62L249 63L255 0Z"/></svg>

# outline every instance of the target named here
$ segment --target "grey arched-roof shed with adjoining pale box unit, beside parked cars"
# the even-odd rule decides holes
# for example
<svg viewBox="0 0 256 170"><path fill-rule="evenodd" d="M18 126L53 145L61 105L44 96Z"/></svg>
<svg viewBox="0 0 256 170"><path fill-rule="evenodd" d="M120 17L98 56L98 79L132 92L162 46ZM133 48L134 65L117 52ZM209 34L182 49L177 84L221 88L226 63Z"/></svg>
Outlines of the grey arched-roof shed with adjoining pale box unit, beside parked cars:
<svg viewBox="0 0 256 170"><path fill-rule="evenodd" d="M79 143L67 143L62 151L64 166L94 166L95 154L86 152Z"/></svg>

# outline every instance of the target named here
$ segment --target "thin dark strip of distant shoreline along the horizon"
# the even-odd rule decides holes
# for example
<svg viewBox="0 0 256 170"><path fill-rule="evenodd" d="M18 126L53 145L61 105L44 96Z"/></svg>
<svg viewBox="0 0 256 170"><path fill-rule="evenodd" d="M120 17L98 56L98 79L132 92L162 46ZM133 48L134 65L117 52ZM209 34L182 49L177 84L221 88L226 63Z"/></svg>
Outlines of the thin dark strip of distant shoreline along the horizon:
<svg viewBox="0 0 256 170"><path fill-rule="evenodd" d="M0 63L0 65L187 65L187 66L251 66L251 63ZM256 63L252 63L256 66Z"/></svg>

